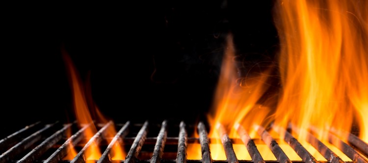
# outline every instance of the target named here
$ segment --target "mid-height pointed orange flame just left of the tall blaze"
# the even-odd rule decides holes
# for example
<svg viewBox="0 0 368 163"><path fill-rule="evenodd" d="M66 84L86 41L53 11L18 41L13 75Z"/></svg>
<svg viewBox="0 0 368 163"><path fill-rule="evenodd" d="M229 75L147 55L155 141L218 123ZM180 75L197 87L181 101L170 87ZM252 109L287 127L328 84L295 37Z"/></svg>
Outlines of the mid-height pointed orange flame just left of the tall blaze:
<svg viewBox="0 0 368 163"><path fill-rule="evenodd" d="M237 123L259 122L261 123L269 109L256 105L261 95L268 88L265 81L268 70L258 76L237 76L237 70L234 66L235 47L233 45L232 35L228 35L227 46L225 49L222 68L216 93L214 96L213 112L208 116L211 129L209 137L212 138L210 151L212 159L226 160L226 155L220 141L218 123L221 123L231 138L238 138L234 125ZM258 118L244 118L249 113ZM258 114L262 112L264 114ZM227 114L232 113L232 114ZM244 121L244 119L248 119ZM216 125L217 124L217 125ZM235 148L236 153L242 153L241 148ZM188 151L190 152L190 151ZM188 156L193 153L188 153Z"/></svg>

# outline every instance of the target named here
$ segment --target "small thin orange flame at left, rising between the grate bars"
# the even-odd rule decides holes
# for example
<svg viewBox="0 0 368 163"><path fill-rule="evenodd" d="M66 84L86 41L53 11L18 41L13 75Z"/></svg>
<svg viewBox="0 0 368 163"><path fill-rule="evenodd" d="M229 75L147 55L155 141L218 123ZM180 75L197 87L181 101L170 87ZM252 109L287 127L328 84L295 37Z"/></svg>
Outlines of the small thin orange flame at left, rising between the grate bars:
<svg viewBox="0 0 368 163"><path fill-rule="evenodd" d="M78 72L74 67L71 58L69 55L63 51L63 57L66 63L67 70L70 75L71 87L73 91L73 101L74 101L74 111L77 118L77 121L80 124L89 124L94 123L90 110L87 105L86 99L92 99L91 94L85 94L85 89L82 87L82 82L79 78ZM88 96L89 95L89 96ZM86 98L89 97L89 98ZM89 101L90 103L93 103ZM94 106L94 105L93 105ZM94 106L94 111L96 116L101 123L107 123L108 120L101 114L97 106ZM86 130L84 130L84 137L86 140L90 140L97 133L96 126L91 125ZM116 135L116 130L113 125L110 125L105 131L105 137L107 138L108 143L112 140L112 138ZM109 139L111 138L111 139ZM72 145L71 145L72 146ZM74 147L71 147L72 151L75 151ZM77 153L71 153L68 155L68 158L71 158L77 155ZM85 151L86 162L95 162L95 160L99 160L101 157L101 151L99 145L96 142L93 142L89 148ZM120 145L114 145L111 149L111 159L112 160L124 160L125 152Z"/></svg>

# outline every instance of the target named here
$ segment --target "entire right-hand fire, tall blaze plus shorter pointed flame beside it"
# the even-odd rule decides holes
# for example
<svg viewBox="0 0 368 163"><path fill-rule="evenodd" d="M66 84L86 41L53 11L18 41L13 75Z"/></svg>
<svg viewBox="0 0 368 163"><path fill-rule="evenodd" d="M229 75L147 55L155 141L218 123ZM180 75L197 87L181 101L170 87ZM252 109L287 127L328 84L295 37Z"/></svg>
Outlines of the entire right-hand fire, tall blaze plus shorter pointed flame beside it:
<svg viewBox="0 0 368 163"><path fill-rule="evenodd" d="M347 134L343 133L350 133L356 125L360 138L368 142L367 6L368 1L351 0L276 1L274 20L281 43L278 70L282 87L275 109L260 100L269 87L270 70L237 76L230 35L209 114L209 137L218 140L210 144L212 159L226 160L218 123L231 138L238 138L235 124L248 127L252 139L259 136L250 126L272 122L286 129L292 123L301 129L294 137L311 153L315 149L305 142L310 127L318 129L315 136L329 145L330 129L338 130L340 139L346 141ZM283 133L272 137L279 139L280 146L285 144ZM194 152L188 156L191 154ZM297 155L288 157L300 160Z"/></svg>

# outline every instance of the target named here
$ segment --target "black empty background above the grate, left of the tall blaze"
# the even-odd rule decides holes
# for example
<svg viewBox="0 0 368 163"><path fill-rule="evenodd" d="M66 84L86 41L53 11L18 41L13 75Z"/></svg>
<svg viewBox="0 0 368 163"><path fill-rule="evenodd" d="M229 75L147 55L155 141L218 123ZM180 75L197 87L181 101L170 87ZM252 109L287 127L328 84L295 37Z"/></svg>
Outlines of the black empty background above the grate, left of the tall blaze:
<svg viewBox="0 0 368 163"><path fill-rule="evenodd" d="M60 2L5 8L0 60L5 129L75 119L62 50L89 83L93 101L106 117L192 123L211 108L229 32L239 77L251 67L271 65L278 47L272 0Z"/></svg>

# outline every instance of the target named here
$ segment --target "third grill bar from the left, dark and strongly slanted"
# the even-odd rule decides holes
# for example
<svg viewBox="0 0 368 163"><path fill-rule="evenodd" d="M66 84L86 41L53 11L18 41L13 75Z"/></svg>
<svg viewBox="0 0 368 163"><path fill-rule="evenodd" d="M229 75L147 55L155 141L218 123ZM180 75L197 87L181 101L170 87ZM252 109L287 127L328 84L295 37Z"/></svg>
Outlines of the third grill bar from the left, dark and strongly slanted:
<svg viewBox="0 0 368 163"><path fill-rule="evenodd" d="M57 141L63 138L65 131L72 126L72 123L65 125L61 130L55 132L51 137L44 140L40 145L32 149L26 156L24 156L17 163L32 163L35 159L42 156L49 148L51 148Z"/></svg>

